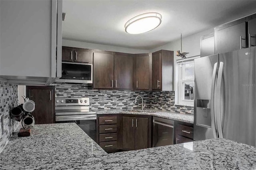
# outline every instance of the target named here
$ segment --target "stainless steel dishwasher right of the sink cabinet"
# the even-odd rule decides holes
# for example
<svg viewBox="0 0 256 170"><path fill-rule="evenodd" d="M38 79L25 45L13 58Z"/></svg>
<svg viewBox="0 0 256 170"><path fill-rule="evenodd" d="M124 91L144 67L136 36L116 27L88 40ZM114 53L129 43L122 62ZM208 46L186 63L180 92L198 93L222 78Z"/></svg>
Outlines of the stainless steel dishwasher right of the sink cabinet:
<svg viewBox="0 0 256 170"><path fill-rule="evenodd" d="M173 135L174 121L160 117L153 117L153 147L173 144Z"/></svg>

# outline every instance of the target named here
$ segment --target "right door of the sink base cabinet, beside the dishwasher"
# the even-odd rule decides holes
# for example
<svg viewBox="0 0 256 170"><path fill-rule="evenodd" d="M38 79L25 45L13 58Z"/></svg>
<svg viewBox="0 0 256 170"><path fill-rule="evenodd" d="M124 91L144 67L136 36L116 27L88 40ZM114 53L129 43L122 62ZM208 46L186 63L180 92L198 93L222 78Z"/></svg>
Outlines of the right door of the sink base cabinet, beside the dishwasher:
<svg viewBox="0 0 256 170"><path fill-rule="evenodd" d="M135 118L135 149L148 148L148 118Z"/></svg>

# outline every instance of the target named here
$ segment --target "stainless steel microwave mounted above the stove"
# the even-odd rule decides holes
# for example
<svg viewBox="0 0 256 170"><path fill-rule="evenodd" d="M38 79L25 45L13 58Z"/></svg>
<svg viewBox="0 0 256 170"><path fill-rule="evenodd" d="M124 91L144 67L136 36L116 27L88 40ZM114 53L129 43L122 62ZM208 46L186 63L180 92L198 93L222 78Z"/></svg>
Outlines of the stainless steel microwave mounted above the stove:
<svg viewBox="0 0 256 170"><path fill-rule="evenodd" d="M62 62L61 83L92 83L92 64Z"/></svg>

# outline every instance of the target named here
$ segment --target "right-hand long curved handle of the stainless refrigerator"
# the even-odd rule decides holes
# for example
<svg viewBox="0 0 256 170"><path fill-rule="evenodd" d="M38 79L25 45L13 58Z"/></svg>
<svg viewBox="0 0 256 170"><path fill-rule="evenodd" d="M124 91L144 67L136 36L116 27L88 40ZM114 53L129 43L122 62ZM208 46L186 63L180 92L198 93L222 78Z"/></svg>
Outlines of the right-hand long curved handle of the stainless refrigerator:
<svg viewBox="0 0 256 170"><path fill-rule="evenodd" d="M217 113L217 126L218 126L218 133L219 137L223 138L222 134L222 127L221 127L221 119L220 119L220 87L221 87L221 80L222 80L222 73L223 73L223 66L224 63L220 62L219 72L218 72L218 79L217 79L217 105L216 105L216 113Z"/></svg>

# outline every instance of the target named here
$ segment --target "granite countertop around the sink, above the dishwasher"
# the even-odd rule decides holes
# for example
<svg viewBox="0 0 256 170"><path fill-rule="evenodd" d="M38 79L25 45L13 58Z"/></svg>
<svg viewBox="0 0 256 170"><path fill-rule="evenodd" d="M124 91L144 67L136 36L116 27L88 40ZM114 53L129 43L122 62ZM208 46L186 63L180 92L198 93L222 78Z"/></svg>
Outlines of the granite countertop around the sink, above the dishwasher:
<svg viewBox="0 0 256 170"><path fill-rule="evenodd" d="M174 111L162 111L154 109L145 109L144 112L141 111L126 111L126 110L114 110L114 109L105 109L105 110L96 110L96 114L132 114L132 115L151 115L156 117L162 117L165 119L172 119L174 121L182 121L187 123L194 123L194 115L184 115L178 114Z"/></svg>

